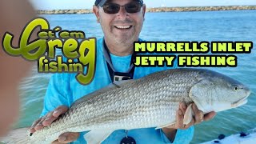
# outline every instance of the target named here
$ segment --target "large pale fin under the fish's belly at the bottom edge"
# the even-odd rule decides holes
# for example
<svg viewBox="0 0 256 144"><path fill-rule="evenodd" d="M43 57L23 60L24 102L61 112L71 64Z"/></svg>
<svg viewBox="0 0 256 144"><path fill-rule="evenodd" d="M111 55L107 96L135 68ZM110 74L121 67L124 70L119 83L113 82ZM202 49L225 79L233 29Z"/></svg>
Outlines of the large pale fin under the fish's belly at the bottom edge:
<svg viewBox="0 0 256 144"><path fill-rule="evenodd" d="M83 137L87 144L102 143L114 130L92 130L86 133Z"/></svg>

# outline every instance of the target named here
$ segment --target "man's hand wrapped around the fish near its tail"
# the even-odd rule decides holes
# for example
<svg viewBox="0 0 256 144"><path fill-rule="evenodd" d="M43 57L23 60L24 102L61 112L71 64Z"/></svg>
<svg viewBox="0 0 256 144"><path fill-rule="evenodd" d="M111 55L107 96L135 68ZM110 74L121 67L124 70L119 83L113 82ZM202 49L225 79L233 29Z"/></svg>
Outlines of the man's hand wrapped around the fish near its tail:
<svg viewBox="0 0 256 144"><path fill-rule="evenodd" d="M32 126L30 127L30 133L34 133L37 130L42 130L42 128L45 126L50 126L50 124L54 122L54 120L56 120L60 115L66 113L67 110L68 110L67 106L58 106L58 108L56 108L53 111L50 111L44 117L34 121ZM58 139L52 143L57 144L57 143L74 142L75 140L78 139L78 137L79 137L79 133L67 132L67 133L61 134L58 137Z"/></svg>

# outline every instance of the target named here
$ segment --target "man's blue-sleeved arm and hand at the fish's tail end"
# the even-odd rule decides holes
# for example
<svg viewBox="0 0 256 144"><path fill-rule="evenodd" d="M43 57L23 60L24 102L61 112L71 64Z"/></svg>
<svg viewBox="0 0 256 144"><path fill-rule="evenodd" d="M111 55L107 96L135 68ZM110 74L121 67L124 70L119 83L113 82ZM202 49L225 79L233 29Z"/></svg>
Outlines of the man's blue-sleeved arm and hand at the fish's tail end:
<svg viewBox="0 0 256 144"><path fill-rule="evenodd" d="M66 113L69 109L68 98L68 75L67 74L54 74L50 78L50 83L46 91L44 100L44 108L42 110L41 118L34 121L30 127L30 133L37 130L42 130L45 126L50 126L55 119L60 115ZM53 143L68 143L74 142L79 137L79 133L64 133L58 137L58 140Z"/></svg>

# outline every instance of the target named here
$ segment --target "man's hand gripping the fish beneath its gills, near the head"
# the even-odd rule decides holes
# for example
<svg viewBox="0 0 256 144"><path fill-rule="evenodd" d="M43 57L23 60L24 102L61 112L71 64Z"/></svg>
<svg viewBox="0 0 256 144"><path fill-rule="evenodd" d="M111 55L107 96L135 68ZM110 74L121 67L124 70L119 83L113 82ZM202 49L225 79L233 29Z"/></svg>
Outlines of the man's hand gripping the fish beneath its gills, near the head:
<svg viewBox="0 0 256 144"><path fill-rule="evenodd" d="M192 109L194 111L194 118L192 119L192 121L189 124L184 125L183 119L184 119L184 114L186 112L186 108L187 108L187 106L186 106L185 102L180 103L179 109L176 112L176 123L174 125L162 128L162 131L166 134L166 137L169 138L170 141L174 140L176 131L178 129L186 130L190 126L199 124L203 121L209 121L210 119L214 118L214 116L216 115L216 113L214 111L212 111L208 114L203 114L203 112L201 110L198 110L198 106L196 106L193 103Z"/></svg>

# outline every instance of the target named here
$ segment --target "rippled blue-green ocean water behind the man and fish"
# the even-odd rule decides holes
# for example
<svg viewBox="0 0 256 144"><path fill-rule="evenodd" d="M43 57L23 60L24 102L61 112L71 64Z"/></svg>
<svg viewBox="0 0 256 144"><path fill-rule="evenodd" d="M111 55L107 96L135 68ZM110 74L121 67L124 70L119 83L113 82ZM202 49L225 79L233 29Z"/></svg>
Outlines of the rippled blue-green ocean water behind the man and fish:
<svg viewBox="0 0 256 144"><path fill-rule="evenodd" d="M94 14L41 15L51 28L82 30L86 37L102 37ZM140 38L148 41L252 41L256 38L256 10L147 13ZM255 47L255 45L254 45ZM226 110L210 122L195 126L192 143L218 138L218 134L236 134L256 127L256 50L237 54L235 68L210 68L250 86L252 94L245 106ZM37 66L20 86L21 118L14 126L30 126L42 111L43 97L51 74L38 74Z"/></svg>

